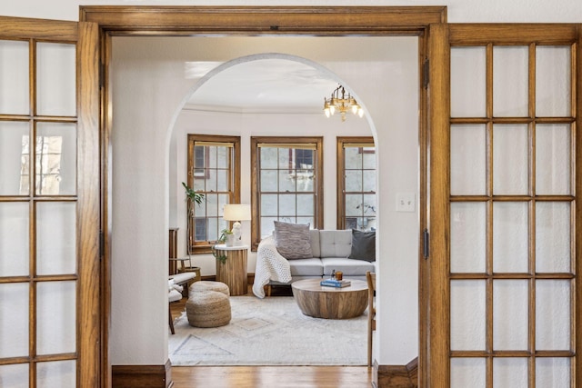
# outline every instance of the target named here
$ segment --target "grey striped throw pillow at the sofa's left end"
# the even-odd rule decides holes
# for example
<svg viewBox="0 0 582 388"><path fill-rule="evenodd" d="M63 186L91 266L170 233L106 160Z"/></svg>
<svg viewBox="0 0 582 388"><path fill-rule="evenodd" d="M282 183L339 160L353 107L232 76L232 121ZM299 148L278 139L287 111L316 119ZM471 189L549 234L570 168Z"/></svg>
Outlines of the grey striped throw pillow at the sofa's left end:
<svg viewBox="0 0 582 388"><path fill-rule="evenodd" d="M310 259L309 224L290 224L275 221L275 246L286 259Z"/></svg>

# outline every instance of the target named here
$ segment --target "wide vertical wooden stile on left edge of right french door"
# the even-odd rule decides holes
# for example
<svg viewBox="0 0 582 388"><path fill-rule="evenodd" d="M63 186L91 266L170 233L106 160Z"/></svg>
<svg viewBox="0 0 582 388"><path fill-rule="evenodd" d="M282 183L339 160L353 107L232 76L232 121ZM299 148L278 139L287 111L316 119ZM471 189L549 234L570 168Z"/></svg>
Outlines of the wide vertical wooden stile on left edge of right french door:
<svg viewBox="0 0 582 388"><path fill-rule="evenodd" d="M426 335L430 342L426 356L426 386L446 388L449 384L450 363L448 359L448 343L450 336L443 334L443 328L448 331L450 312L447 310L449 300L448 288L448 198L449 198L449 150L450 134L448 118L450 112L450 50L448 49L447 25L431 25L428 41L428 57L430 66L430 106L428 129L428 146L430 154L428 164L430 178L427 203L430 206L430 219L427 220L430 230L429 258L426 271ZM446 182L447 184L442 184ZM430 314L428 313L430 311ZM422 313L422 312L421 312ZM445 338L434 343L432 338ZM442 346L438 346L443 344Z"/></svg>

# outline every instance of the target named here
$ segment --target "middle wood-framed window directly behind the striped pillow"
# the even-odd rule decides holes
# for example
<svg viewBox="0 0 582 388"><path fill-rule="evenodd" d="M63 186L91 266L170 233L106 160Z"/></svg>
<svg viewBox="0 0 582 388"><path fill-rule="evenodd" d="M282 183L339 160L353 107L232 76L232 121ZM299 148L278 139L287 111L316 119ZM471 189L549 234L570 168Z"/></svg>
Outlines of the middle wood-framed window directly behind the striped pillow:
<svg viewBox="0 0 582 388"><path fill-rule="evenodd" d="M323 137L252 137L253 248L274 221L323 225Z"/></svg>

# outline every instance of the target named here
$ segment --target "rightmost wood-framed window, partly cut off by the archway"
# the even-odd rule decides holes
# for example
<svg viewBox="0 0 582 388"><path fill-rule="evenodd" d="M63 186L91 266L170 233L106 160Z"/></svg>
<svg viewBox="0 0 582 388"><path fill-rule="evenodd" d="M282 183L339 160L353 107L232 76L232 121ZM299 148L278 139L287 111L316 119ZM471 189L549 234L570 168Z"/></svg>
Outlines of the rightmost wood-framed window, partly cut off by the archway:
<svg viewBox="0 0 582 388"><path fill-rule="evenodd" d="M376 148L372 137L337 138L337 229L376 229Z"/></svg>

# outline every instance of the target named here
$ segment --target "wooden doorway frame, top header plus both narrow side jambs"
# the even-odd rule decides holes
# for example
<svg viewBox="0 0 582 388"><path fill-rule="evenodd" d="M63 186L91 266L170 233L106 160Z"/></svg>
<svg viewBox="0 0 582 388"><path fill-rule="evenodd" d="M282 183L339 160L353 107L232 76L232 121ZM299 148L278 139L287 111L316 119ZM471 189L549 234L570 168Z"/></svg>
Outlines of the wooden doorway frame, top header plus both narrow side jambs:
<svg viewBox="0 0 582 388"><path fill-rule="evenodd" d="M417 36L419 82L419 242L426 224L426 155L428 149L428 27L447 23L446 6L80 6L79 20L99 26L103 93L101 109L102 228L105 258L101 302L104 306L103 381L110 382L107 358L111 300L111 85L109 65L113 36ZM418 246L419 276L419 383L427 363L427 271ZM376 365L376 373L377 373ZM105 384L105 386L107 386Z"/></svg>

